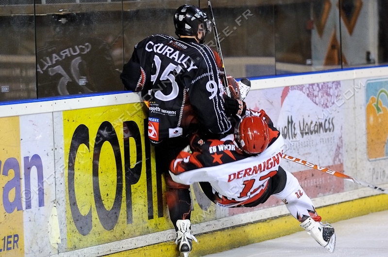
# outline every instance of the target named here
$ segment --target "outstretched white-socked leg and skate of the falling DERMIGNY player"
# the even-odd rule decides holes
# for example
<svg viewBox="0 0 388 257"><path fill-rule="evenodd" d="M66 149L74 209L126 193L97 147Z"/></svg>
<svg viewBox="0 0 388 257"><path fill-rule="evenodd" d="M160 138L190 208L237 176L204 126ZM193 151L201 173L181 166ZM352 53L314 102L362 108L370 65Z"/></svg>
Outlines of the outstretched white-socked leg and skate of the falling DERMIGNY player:
<svg viewBox="0 0 388 257"><path fill-rule="evenodd" d="M336 243L334 227L329 223L321 222L321 216L318 215L313 202L304 192L299 181L288 171L285 170L285 173L287 175L285 188L273 196L286 204L288 211L301 222L300 226L309 235L321 246L333 252Z"/></svg>

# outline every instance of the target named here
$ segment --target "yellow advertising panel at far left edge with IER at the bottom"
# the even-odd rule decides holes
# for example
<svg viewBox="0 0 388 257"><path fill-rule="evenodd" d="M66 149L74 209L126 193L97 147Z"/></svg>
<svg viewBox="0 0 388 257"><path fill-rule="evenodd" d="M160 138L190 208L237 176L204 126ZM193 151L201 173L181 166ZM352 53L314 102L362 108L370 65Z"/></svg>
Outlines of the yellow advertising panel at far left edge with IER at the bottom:
<svg viewBox="0 0 388 257"><path fill-rule="evenodd" d="M19 117L0 119L0 256L24 256Z"/></svg>

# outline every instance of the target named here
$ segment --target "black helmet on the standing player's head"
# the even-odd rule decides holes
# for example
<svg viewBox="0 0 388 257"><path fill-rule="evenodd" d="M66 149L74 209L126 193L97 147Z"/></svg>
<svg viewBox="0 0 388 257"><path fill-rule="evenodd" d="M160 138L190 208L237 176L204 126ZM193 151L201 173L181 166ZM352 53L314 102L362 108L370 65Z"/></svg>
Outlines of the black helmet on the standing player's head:
<svg viewBox="0 0 388 257"><path fill-rule="evenodd" d="M203 24L206 33L211 31L211 22L205 12L195 5L182 5L174 15L175 34L177 36L198 36L198 27Z"/></svg>

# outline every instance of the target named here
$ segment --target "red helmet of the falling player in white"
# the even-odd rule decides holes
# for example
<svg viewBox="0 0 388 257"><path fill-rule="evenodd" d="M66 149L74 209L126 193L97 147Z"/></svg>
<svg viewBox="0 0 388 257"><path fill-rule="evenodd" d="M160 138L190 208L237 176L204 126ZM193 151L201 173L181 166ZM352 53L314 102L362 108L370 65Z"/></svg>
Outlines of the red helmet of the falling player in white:
<svg viewBox="0 0 388 257"><path fill-rule="evenodd" d="M270 143L268 124L257 116L243 117L236 126L235 135L241 150L250 154L263 152Z"/></svg>

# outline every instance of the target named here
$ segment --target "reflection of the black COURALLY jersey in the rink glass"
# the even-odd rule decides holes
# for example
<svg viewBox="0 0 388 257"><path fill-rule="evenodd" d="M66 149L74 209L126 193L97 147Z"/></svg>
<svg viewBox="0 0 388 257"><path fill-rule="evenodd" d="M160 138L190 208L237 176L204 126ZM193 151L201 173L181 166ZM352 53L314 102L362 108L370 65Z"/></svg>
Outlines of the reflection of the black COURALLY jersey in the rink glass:
<svg viewBox="0 0 388 257"><path fill-rule="evenodd" d="M37 51L38 97L122 91L108 45L98 37L52 40Z"/></svg>

